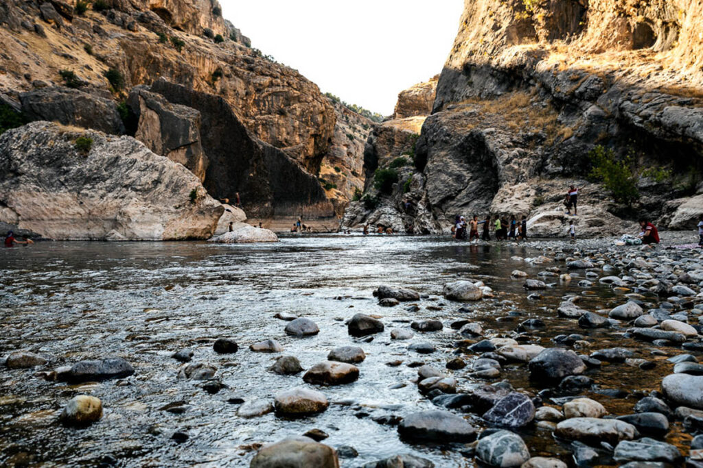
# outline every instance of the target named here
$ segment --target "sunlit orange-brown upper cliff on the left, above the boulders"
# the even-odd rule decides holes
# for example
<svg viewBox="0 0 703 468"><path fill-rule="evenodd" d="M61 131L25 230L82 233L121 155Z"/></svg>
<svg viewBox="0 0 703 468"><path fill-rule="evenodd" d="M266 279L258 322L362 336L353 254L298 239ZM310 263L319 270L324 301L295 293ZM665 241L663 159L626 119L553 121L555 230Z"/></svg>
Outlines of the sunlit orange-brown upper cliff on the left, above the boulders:
<svg viewBox="0 0 703 468"><path fill-rule="evenodd" d="M217 1L107 0L102 5L107 9L96 11L93 4L79 14L74 0L3 2L0 93L18 101L20 93L65 83L76 87L75 93L101 89L119 102L133 86L165 77L221 96L255 137L318 175L335 131L333 106L304 76L249 48L250 41L221 18ZM125 131L86 119L65 123ZM181 154L178 160L194 168L200 163L191 156ZM203 168L194 170L202 175Z"/></svg>

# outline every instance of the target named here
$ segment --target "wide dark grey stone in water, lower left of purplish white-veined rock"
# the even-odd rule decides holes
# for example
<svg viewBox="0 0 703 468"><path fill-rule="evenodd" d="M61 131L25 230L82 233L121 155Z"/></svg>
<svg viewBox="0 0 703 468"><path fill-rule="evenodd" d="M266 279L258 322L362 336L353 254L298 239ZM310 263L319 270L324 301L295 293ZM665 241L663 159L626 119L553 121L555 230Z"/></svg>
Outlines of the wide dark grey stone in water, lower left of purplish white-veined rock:
<svg viewBox="0 0 703 468"><path fill-rule="evenodd" d="M398 432L405 439L439 442L470 442L476 437L475 427L463 417L441 410L407 415Z"/></svg>

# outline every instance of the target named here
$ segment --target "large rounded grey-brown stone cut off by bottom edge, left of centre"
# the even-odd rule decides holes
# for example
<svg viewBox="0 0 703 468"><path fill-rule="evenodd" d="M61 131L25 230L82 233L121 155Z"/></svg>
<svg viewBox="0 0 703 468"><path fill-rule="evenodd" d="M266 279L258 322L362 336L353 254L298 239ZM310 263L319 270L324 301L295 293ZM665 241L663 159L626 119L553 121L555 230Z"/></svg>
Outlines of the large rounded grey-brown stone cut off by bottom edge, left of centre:
<svg viewBox="0 0 703 468"><path fill-rule="evenodd" d="M290 437L263 446L250 468L339 468L337 453L309 437Z"/></svg>

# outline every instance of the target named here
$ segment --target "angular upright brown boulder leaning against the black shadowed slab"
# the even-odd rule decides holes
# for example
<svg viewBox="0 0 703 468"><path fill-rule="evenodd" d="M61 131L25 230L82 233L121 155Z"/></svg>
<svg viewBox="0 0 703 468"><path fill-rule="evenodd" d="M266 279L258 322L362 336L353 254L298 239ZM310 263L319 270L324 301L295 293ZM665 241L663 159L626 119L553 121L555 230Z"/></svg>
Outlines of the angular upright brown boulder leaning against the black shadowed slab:
<svg viewBox="0 0 703 468"><path fill-rule="evenodd" d="M200 112L171 104L146 86L132 88L128 102L139 119L134 138L156 154L183 164L205 182L208 159L200 144Z"/></svg>

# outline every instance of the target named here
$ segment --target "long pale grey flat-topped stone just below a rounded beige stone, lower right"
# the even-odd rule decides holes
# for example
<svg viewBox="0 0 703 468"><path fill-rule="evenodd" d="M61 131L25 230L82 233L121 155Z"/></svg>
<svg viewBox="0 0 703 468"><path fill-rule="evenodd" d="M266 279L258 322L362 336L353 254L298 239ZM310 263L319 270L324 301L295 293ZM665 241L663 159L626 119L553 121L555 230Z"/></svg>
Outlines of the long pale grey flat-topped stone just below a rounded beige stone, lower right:
<svg viewBox="0 0 703 468"><path fill-rule="evenodd" d="M619 441L635 439L637 429L632 424L619 420L573 417L557 424L554 435L561 439L580 441L593 446L599 446L601 442L614 446Z"/></svg>

